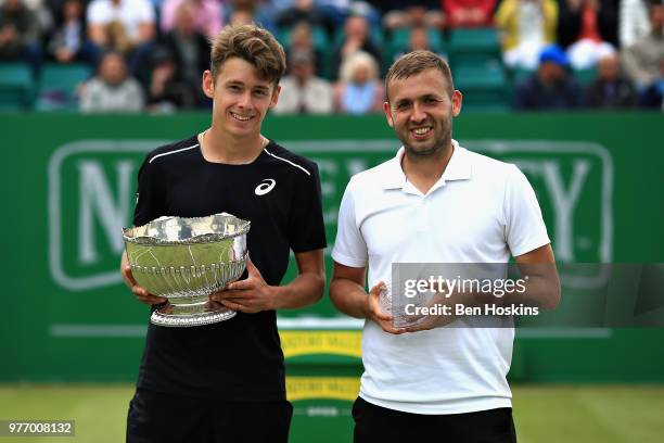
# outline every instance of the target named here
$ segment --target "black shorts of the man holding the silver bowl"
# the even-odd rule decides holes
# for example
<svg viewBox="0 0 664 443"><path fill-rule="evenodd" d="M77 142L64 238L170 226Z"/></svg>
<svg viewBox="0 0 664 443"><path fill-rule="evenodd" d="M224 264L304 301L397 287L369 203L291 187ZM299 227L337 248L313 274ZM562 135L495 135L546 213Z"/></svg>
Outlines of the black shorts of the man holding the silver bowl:
<svg viewBox="0 0 664 443"><path fill-rule="evenodd" d="M219 402L137 390L127 443L286 443L292 416L285 400Z"/></svg>

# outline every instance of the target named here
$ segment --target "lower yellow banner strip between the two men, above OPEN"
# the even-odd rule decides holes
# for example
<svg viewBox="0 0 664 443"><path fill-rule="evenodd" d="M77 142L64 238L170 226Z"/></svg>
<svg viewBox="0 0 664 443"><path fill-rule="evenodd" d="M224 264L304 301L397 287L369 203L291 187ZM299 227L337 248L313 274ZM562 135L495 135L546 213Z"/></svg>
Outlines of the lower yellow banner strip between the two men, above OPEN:
<svg viewBox="0 0 664 443"><path fill-rule="evenodd" d="M286 377L286 396L291 402L312 398L353 402L359 384L356 377Z"/></svg>

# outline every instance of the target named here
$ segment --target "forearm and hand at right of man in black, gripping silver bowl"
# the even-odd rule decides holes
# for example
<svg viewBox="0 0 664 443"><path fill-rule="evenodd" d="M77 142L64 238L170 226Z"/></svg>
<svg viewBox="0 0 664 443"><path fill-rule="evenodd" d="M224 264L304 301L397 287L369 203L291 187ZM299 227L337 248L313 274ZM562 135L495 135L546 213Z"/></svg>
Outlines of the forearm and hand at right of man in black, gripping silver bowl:
<svg viewBox="0 0 664 443"><path fill-rule="evenodd" d="M209 298L229 309L243 313L311 305L320 300L325 286L323 250L295 253L295 261L299 274L293 281L285 286L269 286L250 258L246 261L246 279L232 282Z"/></svg>

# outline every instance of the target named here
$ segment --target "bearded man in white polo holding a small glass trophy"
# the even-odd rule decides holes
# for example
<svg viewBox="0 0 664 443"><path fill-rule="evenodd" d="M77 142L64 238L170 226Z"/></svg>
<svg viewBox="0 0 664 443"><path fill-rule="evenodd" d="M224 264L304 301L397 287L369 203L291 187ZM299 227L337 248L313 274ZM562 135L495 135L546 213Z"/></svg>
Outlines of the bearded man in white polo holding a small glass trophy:
<svg viewBox="0 0 664 443"><path fill-rule="evenodd" d="M553 308L560 283L535 193L514 165L451 139L462 96L438 55L401 56L385 87L385 116L403 148L350 179L332 252L332 302L367 319L355 442L436 435L454 443L515 442L506 379L513 328L399 329L380 308L379 294L393 263L507 263L514 256L520 267L547 265L529 271L520 300Z"/></svg>

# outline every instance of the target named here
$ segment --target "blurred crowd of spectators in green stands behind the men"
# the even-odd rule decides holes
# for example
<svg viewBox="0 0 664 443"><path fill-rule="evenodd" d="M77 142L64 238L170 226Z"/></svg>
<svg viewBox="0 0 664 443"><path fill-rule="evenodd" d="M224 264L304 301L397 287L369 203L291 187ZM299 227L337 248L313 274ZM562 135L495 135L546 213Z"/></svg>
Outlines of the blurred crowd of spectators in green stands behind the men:
<svg viewBox="0 0 664 443"><path fill-rule="evenodd" d="M663 1L0 0L0 109L17 65L33 109L71 106L47 78L73 67L82 112L209 107L209 39L257 23L286 51L278 114L381 112L381 77L418 49L449 60L469 107L664 111Z"/></svg>

